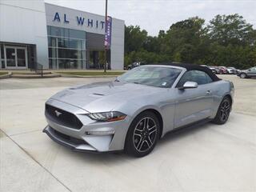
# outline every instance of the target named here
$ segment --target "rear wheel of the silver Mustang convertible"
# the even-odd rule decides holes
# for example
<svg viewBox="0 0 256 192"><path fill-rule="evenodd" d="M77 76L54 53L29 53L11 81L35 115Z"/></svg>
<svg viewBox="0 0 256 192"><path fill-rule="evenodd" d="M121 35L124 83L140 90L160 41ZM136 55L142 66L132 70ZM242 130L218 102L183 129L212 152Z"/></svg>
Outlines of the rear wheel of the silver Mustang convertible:
<svg viewBox="0 0 256 192"><path fill-rule="evenodd" d="M212 122L218 125L225 124L230 116L232 102L229 97L222 99L221 104L218 106L218 112Z"/></svg>

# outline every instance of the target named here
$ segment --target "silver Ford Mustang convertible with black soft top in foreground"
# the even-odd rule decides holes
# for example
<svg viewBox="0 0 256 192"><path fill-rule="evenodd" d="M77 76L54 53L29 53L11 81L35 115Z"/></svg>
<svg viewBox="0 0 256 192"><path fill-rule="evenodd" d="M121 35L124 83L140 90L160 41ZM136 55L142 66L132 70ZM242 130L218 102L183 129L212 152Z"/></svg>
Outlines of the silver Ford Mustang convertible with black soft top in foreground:
<svg viewBox="0 0 256 192"><path fill-rule="evenodd" d="M166 133L202 122L224 124L234 85L204 66L138 66L113 82L73 86L46 101L43 130L83 152L124 150L143 157Z"/></svg>

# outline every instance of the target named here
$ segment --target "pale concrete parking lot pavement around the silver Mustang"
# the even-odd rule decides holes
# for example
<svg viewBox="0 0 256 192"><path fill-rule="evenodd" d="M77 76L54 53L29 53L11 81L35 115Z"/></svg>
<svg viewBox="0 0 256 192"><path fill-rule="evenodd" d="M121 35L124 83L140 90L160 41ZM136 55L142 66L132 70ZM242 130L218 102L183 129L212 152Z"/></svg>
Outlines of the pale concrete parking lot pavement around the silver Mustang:
<svg viewBox="0 0 256 192"><path fill-rule="evenodd" d="M111 78L0 80L0 191L256 191L256 79L235 75L229 121L167 134L152 154L82 154L42 133L44 102Z"/></svg>

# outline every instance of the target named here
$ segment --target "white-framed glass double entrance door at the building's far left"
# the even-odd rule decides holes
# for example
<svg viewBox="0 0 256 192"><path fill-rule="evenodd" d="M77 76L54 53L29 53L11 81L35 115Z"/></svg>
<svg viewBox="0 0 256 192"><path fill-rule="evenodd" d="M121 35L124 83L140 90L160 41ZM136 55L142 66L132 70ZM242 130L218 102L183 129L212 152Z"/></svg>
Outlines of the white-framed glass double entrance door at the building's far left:
<svg viewBox="0 0 256 192"><path fill-rule="evenodd" d="M6 68L26 69L27 51L26 47L5 46Z"/></svg>

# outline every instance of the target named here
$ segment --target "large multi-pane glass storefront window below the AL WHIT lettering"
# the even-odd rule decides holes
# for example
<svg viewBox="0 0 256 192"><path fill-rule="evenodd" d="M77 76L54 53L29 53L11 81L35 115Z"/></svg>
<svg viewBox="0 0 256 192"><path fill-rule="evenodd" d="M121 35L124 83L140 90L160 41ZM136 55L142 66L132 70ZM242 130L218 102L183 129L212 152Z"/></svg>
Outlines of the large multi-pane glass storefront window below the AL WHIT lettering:
<svg viewBox="0 0 256 192"><path fill-rule="evenodd" d="M47 26L47 33L51 69L82 69L85 66L85 31Z"/></svg>

